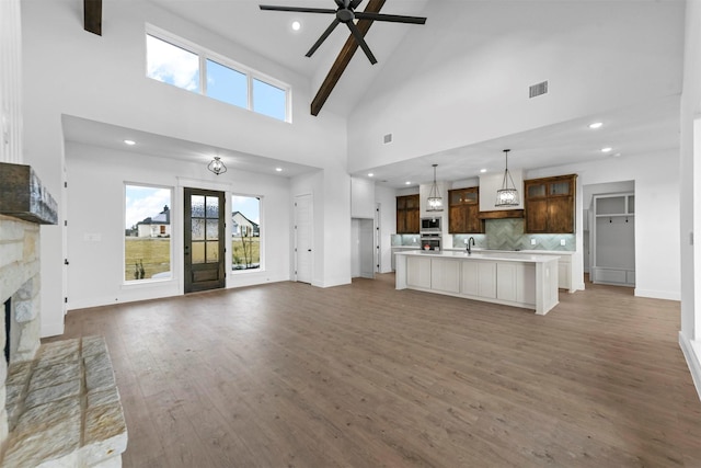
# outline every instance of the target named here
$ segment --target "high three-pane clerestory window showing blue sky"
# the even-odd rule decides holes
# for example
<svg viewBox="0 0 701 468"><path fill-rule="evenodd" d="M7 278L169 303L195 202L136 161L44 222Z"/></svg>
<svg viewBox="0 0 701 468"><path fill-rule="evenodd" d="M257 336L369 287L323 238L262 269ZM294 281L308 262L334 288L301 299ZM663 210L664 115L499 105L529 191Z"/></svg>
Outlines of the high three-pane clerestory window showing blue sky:
<svg viewBox="0 0 701 468"><path fill-rule="evenodd" d="M187 91L290 121L290 87L185 39L149 26L147 76Z"/></svg>

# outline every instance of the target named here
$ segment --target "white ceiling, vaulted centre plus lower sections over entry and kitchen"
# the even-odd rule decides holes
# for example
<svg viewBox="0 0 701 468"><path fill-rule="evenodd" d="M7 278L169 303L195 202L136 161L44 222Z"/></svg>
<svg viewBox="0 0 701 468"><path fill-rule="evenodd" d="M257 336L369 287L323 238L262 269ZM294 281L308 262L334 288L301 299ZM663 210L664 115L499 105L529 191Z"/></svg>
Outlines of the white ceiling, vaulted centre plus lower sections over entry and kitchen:
<svg viewBox="0 0 701 468"><path fill-rule="evenodd" d="M288 67L308 77L315 90L329 71L338 50L348 37L347 28L340 25L312 58L304 56L333 19L331 14L290 13L261 11L258 4L278 4L313 8L334 8L333 0L151 0L163 9L199 24L208 31L229 38L251 50ZM432 0L444 1L444 0ZM360 9L365 8L365 1ZM372 66L358 49L341 81L332 92L324 110L347 115L358 102L374 79L381 72L383 64L412 28L430 27L440 33L438 20L432 21L424 14L427 0L388 0L382 13L426 15L426 25L404 25L376 22L366 39L378 58ZM302 23L299 32L292 32L294 20ZM103 22L110 21L108 18ZM514 31L510 32L514 34ZM494 34L498 34L495 30ZM484 38L487 39L487 38ZM323 111L322 111L323 113ZM320 117L321 118L321 117ZM604 127L591 130L588 124L598 121ZM103 147L124 149L122 140L134 130L104 125L73 117L65 118L68 140L89 142ZM243 155L221 148L203 147L194 142L173 140L158 135L138 133L139 148L135 149L160 157L187 158L193 155L203 160L211 158L212 152L226 157L230 167L240 170L269 173L271 168L283 167L283 175L294 176L314 170L301 164ZM135 137L131 137L136 139ZM600 149L612 147L611 155ZM679 146L679 98L669 96L644 106L611 110L599 115L573 122L563 122L549 127L538 128L524 134L510 135L492 141L485 141L464 148L455 148L437 155L400 163L367 168L353 175L375 174L375 180L390 187L405 187L429 182L433 179L430 165L437 163L439 180L463 180L475 178L481 169L503 171L502 150L512 148L509 168L538 169L563 165L579 161L602 158L634 158L634 155L678 148Z"/></svg>

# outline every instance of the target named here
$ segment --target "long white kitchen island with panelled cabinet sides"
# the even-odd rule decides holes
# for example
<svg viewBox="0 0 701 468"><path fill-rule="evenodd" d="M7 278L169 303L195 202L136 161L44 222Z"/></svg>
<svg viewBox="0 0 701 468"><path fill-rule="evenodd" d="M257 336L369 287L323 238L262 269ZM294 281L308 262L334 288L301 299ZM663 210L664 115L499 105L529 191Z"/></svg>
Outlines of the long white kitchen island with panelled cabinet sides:
<svg viewBox="0 0 701 468"><path fill-rule="evenodd" d="M558 256L520 252L404 251L395 254L397 289L417 289L532 309L559 303Z"/></svg>

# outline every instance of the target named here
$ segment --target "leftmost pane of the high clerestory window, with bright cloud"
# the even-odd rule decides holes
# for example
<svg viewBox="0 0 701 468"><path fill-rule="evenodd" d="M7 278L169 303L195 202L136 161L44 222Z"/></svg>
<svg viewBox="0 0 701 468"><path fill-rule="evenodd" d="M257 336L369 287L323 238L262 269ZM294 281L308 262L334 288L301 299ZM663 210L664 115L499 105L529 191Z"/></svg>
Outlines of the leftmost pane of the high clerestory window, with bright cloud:
<svg viewBox="0 0 701 468"><path fill-rule="evenodd" d="M157 37L146 36L147 76L199 92L199 56Z"/></svg>

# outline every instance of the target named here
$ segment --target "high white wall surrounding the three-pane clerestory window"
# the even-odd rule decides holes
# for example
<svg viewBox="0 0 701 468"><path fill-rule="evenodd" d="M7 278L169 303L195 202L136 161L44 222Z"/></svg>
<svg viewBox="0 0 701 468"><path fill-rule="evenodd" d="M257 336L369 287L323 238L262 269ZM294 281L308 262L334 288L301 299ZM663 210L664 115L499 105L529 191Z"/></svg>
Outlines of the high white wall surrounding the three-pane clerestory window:
<svg viewBox="0 0 701 468"><path fill-rule="evenodd" d="M82 9L76 0L22 2L24 162L36 169L59 207L64 206L66 194L62 189L64 114L330 168L335 175L324 176L327 183L322 196L335 198L330 195L340 191L343 192L340 198L345 203L332 208L335 201L327 201L324 209L334 214L326 213L326 217L318 219L334 222L337 213L343 215L348 229L341 247L329 249L320 263L327 267L320 271L318 284L349 281L350 207L345 175L345 119L331 112L319 117L309 115L309 80L150 2L114 1L104 8L103 35L96 36L83 31ZM147 22L291 84L294 123L283 123L146 78ZM66 218L64 212L59 213L60 225ZM42 288L43 335L60 334L64 330L64 294L61 282L56 281L62 275L64 241L60 228L43 228L42 277L54 278L45 281ZM290 243L286 242L285 247L289 258ZM343 252L344 248L347 251ZM344 262L345 269L337 266ZM332 278L323 276L325 271Z"/></svg>

